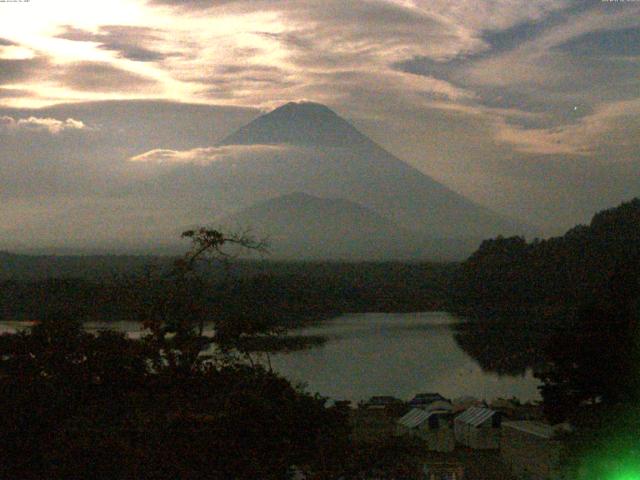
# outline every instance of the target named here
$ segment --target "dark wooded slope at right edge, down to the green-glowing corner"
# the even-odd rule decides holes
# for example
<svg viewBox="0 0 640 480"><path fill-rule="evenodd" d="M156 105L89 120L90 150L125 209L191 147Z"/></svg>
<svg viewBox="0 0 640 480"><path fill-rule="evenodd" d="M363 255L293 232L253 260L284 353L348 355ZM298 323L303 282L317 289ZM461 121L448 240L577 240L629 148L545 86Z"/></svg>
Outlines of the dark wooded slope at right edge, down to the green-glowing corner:
<svg viewBox="0 0 640 480"><path fill-rule="evenodd" d="M574 426L567 478L637 478L640 199L563 237L487 240L454 292L481 332L461 327L463 348L488 369L536 366L547 418Z"/></svg>

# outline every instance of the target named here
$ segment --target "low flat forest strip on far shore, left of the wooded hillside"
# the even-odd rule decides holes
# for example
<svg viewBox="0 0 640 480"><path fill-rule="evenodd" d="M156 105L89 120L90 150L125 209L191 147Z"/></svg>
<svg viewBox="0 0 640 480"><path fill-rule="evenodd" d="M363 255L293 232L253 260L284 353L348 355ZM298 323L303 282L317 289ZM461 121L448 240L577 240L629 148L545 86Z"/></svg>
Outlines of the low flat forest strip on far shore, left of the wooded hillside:
<svg viewBox="0 0 640 480"><path fill-rule="evenodd" d="M151 265L149 271L162 272L170 262ZM1 281L0 320L43 320L70 308L86 320L135 320L131 296L162 284L140 282L149 271L137 261L129 273L125 265L111 268L109 275L102 274L105 267L93 276L16 274ZM454 271L451 264L238 261L200 267L199 301L215 315L238 318L257 309L287 326L345 312L439 310Z"/></svg>

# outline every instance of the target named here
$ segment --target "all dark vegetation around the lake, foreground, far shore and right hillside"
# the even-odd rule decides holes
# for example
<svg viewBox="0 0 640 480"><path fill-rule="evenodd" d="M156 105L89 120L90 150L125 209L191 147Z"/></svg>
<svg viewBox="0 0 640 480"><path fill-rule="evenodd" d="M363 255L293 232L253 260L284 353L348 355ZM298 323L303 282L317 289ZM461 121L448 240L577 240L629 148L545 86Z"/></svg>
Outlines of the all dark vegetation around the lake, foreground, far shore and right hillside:
<svg viewBox="0 0 640 480"><path fill-rule="evenodd" d="M282 333L340 312L445 307L470 320L457 341L483 368L534 367L547 420L573 426L567 478L640 471L640 200L563 237L487 240L460 266L218 268L200 260L222 258L227 243L262 245L210 230L187 237L187 256L137 274L5 277L3 318L39 323L0 337L0 406L15 412L0 418L0 477L406 474L395 459L413 447L353 443L343 410L260 366L256 352L302 348ZM135 320L149 333L88 334L89 319Z"/></svg>

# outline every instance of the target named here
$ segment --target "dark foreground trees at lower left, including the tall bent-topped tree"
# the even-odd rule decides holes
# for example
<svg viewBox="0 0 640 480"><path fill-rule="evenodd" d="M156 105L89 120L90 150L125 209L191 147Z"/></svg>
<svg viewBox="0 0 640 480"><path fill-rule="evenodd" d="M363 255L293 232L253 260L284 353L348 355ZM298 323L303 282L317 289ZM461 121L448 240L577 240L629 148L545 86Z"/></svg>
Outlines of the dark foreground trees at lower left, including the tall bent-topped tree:
<svg viewBox="0 0 640 480"><path fill-rule="evenodd" d="M204 338L212 311L197 261L260 244L185 236L192 251L130 292L146 338L88 333L73 310L0 336L1 478L283 479L293 466L337 476L342 411L260 365L200 355L219 337Z"/></svg>

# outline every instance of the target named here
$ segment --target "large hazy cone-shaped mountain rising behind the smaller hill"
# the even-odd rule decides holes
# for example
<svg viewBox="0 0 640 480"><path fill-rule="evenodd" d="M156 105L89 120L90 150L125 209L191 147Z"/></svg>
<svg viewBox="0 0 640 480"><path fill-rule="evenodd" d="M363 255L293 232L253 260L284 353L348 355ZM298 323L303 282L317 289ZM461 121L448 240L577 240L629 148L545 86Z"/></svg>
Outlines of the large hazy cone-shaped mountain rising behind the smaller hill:
<svg viewBox="0 0 640 480"><path fill-rule="evenodd" d="M399 160L317 103L283 105L226 137L218 147L235 156L179 166L156 183L163 194L173 191L176 198L184 188L197 191L204 220L210 220L212 212L220 217L303 192L352 202L398 231L421 238L467 245L496 235L534 233ZM345 225L344 219L335 220L335 227L340 225ZM460 256L472 250L465 249Z"/></svg>

